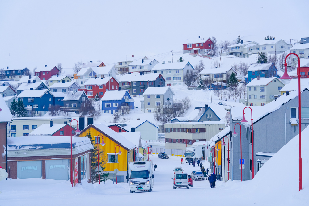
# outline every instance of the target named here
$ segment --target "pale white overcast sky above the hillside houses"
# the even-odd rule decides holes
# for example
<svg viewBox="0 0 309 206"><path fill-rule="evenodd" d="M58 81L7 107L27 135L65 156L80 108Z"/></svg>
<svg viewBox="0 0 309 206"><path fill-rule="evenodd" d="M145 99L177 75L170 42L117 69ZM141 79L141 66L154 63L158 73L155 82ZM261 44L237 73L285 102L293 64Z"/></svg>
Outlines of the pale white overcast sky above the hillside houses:
<svg viewBox="0 0 309 206"><path fill-rule="evenodd" d="M306 0L1 1L0 68L112 64L132 54L168 61L167 52L198 36L300 39L309 36L308 6Z"/></svg>

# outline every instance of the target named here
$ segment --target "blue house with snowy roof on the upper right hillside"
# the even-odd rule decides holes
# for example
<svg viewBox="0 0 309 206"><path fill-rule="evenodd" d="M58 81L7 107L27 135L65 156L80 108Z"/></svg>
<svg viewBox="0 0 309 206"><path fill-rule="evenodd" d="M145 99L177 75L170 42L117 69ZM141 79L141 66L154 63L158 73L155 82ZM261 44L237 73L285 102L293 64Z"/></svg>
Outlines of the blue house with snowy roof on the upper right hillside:
<svg viewBox="0 0 309 206"><path fill-rule="evenodd" d="M245 76L245 83L251 82L255 78L277 77L277 68L273 63L251 64L248 68L248 75Z"/></svg>

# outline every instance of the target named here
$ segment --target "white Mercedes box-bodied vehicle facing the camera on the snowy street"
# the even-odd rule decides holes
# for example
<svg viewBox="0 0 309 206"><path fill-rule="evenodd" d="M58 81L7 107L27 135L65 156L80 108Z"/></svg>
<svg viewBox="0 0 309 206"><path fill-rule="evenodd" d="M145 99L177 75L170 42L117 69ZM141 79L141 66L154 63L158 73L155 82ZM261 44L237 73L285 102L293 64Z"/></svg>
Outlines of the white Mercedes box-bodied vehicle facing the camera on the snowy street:
<svg viewBox="0 0 309 206"><path fill-rule="evenodd" d="M128 176L130 193L151 192L154 187L153 165L151 161L129 162Z"/></svg>

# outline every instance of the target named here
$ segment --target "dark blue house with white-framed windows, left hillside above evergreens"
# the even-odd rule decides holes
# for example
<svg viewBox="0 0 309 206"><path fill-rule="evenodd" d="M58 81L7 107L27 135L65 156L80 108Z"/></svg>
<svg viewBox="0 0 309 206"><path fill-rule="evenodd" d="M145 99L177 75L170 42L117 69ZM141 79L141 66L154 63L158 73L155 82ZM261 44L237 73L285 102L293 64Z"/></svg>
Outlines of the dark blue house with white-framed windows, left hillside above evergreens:
<svg viewBox="0 0 309 206"><path fill-rule="evenodd" d="M55 96L49 90L24 90L17 98L23 100L29 115L44 115L55 105Z"/></svg>

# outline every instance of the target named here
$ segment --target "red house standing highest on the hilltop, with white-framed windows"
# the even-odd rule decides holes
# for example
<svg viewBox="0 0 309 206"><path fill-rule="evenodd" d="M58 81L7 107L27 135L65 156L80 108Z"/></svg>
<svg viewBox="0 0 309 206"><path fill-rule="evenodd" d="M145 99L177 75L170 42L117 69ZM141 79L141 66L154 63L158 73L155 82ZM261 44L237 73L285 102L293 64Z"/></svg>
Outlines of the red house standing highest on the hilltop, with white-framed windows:
<svg viewBox="0 0 309 206"><path fill-rule="evenodd" d="M201 38L200 36L198 39L187 39L186 44L183 45L184 54L187 53L196 53L196 54L205 54L210 52L213 49L213 41L211 38Z"/></svg>

